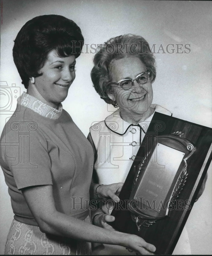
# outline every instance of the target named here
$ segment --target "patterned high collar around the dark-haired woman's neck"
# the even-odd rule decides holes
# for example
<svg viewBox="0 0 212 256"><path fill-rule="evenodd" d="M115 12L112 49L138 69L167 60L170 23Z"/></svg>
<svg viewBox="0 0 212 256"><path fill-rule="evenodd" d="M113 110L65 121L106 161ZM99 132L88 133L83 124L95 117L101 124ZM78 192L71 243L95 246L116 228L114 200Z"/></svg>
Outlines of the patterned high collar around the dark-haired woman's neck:
<svg viewBox="0 0 212 256"><path fill-rule="evenodd" d="M59 109L55 109L47 105L46 103L38 100L37 98L27 94L26 92L23 92L21 94L21 96L17 99L17 102L21 106L25 106L26 108L33 110L39 115L54 120L58 119L63 111L63 106L61 103L59 105Z"/></svg>

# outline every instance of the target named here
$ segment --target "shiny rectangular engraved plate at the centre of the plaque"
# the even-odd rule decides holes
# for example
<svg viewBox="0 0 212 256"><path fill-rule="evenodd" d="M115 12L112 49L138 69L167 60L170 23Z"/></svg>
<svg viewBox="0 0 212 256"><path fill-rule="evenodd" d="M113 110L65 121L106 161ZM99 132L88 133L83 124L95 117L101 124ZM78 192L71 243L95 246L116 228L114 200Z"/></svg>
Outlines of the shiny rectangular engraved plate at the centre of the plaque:
<svg viewBox="0 0 212 256"><path fill-rule="evenodd" d="M152 206L152 210L160 212L184 155L185 152L157 144L134 196L136 200L145 198L143 209Z"/></svg>

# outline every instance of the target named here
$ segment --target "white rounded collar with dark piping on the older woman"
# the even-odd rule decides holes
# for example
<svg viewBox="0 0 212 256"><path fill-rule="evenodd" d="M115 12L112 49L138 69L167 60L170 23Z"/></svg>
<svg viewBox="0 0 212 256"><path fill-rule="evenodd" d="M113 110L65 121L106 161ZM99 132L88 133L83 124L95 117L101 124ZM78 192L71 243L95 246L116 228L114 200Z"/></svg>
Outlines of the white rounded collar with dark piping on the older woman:
<svg viewBox="0 0 212 256"><path fill-rule="evenodd" d="M159 112L165 115L172 115L172 113L169 110L163 108L160 105L152 104L150 107L154 109L154 112ZM119 135L125 134L130 126L138 126L140 127L141 130L145 132L146 129L143 129L143 126L146 125L142 124L144 124L145 122L150 122L152 120L154 112L146 120L140 121L138 122L138 124L130 124L121 118L120 111L118 109L113 114L106 117L105 124L108 127L108 129Z"/></svg>

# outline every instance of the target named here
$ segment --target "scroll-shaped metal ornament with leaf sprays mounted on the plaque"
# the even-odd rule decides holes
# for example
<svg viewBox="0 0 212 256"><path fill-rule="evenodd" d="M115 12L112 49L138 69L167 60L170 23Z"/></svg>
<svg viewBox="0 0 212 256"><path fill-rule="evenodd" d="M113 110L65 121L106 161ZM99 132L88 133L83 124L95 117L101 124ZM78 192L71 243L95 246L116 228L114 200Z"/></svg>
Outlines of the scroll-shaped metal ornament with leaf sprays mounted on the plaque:
<svg viewBox="0 0 212 256"><path fill-rule="evenodd" d="M158 136L155 140L154 148L138 167L128 203L138 230L168 215L170 204L186 182L186 160L195 151L188 140L178 136Z"/></svg>

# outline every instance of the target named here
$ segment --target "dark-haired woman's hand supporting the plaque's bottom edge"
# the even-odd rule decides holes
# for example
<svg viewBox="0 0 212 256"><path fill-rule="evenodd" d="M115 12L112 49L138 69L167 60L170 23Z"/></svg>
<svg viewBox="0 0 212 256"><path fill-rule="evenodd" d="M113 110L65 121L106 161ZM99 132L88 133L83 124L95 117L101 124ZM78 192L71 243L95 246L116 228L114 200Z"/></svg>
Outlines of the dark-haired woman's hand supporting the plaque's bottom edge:
<svg viewBox="0 0 212 256"><path fill-rule="evenodd" d="M126 247L126 243L128 246ZM156 248L153 244L147 243L143 238L136 235L127 235L124 244L126 249L130 252L134 251L136 254L154 255Z"/></svg>

